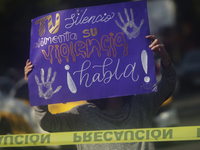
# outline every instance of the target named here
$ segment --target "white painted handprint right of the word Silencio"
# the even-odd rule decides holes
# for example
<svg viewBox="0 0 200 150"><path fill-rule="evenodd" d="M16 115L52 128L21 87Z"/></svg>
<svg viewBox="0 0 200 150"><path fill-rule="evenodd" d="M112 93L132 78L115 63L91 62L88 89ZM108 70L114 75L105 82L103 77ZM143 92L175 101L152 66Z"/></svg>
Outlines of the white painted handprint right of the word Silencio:
<svg viewBox="0 0 200 150"><path fill-rule="evenodd" d="M128 12L127 12L127 9L124 8L124 13L126 15L126 19L127 19L127 23L125 23L124 19L122 18L121 14L118 12L118 16L119 16L119 19L121 20L123 26L121 26L117 20L115 20L115 23L117 24L117 26L119 28L122 29L122 31L127 35L128 39L132 39L132 38L136 38L138 37L138 35L140 34L140 28L141 26L143 25L144 23L144 19L141 20L141 23L139 25L139 27L137 27L135 25L135 22L134 22L134 16L133 16L133 10L130 9L130 12L131 12L131 20L129 18L129 15L128 15ZM129 32L128 31L128 28L132 28L132 32Z"/></svg>

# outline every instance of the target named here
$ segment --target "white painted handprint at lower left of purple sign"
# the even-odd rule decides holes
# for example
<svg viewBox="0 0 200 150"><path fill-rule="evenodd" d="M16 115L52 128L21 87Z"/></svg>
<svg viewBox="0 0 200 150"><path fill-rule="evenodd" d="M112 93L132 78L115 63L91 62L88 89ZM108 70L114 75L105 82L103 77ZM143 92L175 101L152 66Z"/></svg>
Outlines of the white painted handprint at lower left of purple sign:
<svg viewBox="0 0 200 150"><path fill-rule="evenodd" d="M51 77L51 72L52 72L52 68L49 67L46 82L44 81L44 69L43 68L40 71L42 82L39 82L39 78L37 77L37 75L35 75L35 81L38 85L38 92L39 92L38 95L41 98L50 99L54 93L58 92L62 88L62 86L58 86L56 88L56 90L53 91L52 83L54 82L54 80L56 78L56 72L53 73L53 77L52 77L51 81L49 81L50 77ZM45 93L43 92L43 89L46 89Z"/></svg>

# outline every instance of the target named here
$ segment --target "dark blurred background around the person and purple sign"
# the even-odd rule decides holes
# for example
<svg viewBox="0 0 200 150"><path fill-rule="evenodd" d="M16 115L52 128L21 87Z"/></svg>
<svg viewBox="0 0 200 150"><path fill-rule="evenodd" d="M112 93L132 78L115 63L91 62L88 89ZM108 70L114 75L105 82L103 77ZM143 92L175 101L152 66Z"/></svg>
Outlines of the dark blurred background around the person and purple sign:
<svg viewBox="0 0 200 150"><path fill-rule="evenodd" d="M29 58L31 19L63 9L125 1L0 0L0 135L44 132L35 121L33 108L29 105L28 86L23 80L23 69ZM147 0L147 7L150 34L163 41L178 74L176 90L155 116L154 126L199 126L200 1ZM159 81L160 59L157 56L155 67ZM81 103L84 102L50 107L52 113L56 113ZM200 141L156 143L157 150L199 150L199 147ZM76 149L74 146L38 148Z"/></svg>

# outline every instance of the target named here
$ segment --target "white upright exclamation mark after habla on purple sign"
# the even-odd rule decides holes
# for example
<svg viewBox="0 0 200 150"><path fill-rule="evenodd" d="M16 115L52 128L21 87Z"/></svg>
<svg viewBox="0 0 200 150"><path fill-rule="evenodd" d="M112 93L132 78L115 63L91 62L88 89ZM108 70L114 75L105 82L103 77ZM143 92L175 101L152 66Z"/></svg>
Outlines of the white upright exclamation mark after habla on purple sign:
<svg viewBox="0 0 200 150"><path fill-rule="evenodd" d="M144 72L147 74L148 71L148 55L146 50L143 50L141 53L141 61L142 61L142 67L144 69ZM144 82L148 83L150 81L150 78L148 76L144 77Z"/></svg>

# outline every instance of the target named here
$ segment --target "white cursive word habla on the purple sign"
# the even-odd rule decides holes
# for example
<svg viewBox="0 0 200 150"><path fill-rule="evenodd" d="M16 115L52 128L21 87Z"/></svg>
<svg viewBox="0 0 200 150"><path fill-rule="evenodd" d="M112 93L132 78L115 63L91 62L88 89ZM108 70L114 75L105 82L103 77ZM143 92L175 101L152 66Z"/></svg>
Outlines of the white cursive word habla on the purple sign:
<svg viewBox="0 0 200 150"><path fill-rule="evenodd" d="M116 65L116 67L114 66ZM111 68L113 67L115 70L111 71ZM128 78L130 77L133 82L137 82L139 79L139 75L134 75L135 74L135 67L136 67L136 62L134 64L128 64L123 71L119 71L119 66L120 66L120 59L117 60L117 63L113 61L112 58L106 58L103 61L102 65L92 65L91 61L86 60L83 62L81 66L81 70L75 71L73 75L76 73L80 73L80 85L82 83L84 84L85 81L85 87L90 87L94 82L102 82L104 84L110 83L110 81L114 78L117 81L120 80L122 77ZM94 68L98 68L98 72L95 74L91 74L91 70Z"/></svg>

